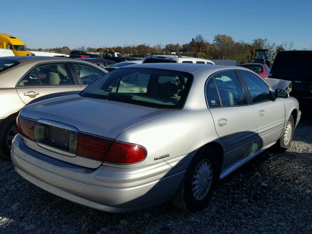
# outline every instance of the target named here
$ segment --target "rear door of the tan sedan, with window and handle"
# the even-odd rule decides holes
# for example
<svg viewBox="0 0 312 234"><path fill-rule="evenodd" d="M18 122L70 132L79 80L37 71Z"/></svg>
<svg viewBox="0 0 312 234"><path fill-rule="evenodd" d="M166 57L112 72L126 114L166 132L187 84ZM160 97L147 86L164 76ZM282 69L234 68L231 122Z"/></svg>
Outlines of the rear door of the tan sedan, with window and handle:
<svg viewBox="0 0 312 234"><path fill-rule="evenodd" d="M48 94L81 91L66 62L41 63L27 72L16 85L20 99L28 102Z"/></svg>

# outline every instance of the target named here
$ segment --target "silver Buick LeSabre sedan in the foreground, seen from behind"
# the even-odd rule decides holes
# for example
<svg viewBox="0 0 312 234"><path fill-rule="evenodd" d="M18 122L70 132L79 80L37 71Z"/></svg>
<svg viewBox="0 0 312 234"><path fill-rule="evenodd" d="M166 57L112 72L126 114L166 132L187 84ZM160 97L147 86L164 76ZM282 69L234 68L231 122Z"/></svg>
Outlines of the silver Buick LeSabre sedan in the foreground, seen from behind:
<svg viewBox="0 0 312 234"><path fill-rule="evenodd" d="M271 146L287 150L298 101L242 67L138 64L79 95L20 111L20 176L65 199L125 212L171 199L202 209L216 182Z"/></svg>

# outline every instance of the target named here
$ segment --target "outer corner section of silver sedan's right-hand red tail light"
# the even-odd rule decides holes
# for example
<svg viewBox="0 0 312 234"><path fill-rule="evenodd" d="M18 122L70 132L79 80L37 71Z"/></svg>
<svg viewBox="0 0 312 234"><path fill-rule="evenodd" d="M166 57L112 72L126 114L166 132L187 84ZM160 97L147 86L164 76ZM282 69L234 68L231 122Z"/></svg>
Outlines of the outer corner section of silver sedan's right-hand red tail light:
<svg viewBox="0 0 312 234"><path fill-rule="evenodd" d="M135 163L144 160L146 150L139 145L114 142L104 157L105 162Z"/></svg>

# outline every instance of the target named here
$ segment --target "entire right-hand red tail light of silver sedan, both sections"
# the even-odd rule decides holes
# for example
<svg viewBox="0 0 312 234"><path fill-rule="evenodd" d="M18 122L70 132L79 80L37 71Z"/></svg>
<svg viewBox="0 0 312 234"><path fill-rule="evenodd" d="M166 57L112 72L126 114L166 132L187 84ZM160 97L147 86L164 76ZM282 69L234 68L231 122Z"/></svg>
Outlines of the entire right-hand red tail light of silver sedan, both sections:
<svg viewBox="0 0 312 234"><path fill-rule="evenodd" d="M77 155L105 162L129 164L144 160L146 150L139 145L78 133Z"/></svg>

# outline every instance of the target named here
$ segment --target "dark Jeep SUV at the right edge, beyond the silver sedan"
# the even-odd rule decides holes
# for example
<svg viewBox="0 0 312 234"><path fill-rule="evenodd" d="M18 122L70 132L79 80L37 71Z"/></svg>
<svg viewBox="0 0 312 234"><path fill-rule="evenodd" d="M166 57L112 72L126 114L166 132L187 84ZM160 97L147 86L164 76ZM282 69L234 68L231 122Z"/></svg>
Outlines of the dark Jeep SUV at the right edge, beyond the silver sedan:
<svg viewBox="0 0 312 234"><path fill-rule="evenodd" d="M312 51L280 51L277 53L269 78L292 81L291 96L300 104L312 100ZM310 103L311 105L311 103Z"/></svg>

